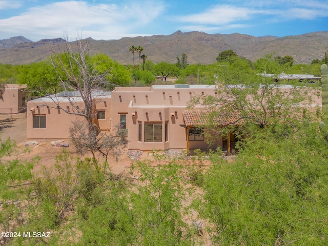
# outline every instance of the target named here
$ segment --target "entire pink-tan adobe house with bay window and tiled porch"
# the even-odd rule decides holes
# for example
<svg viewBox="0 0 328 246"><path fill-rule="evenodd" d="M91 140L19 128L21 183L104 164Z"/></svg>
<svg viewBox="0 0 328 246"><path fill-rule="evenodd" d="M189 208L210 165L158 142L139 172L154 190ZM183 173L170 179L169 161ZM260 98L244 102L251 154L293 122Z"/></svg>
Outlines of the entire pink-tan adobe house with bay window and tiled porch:
<svg viewBox="0 0 328 246"><path fill-rule="evenodd" d="M281 86L289 90L289 86ZM106 94L107 93L107 94ZM153 149L206 150L201 119L201 106L187 109L195 95L215 95L214 85L170 85L151 87L117 87L110 92L98 92L96 97L97 121L101 131L115 131L116 126L128 130L128 149L149 151ZM82 100L76 95L74 101ZM313 98L314 105L321 105L321 96ZM74 119L83 117L68 114L56 108L59 102L64 109L72 109L64 93L51 98L38 98L28 102L27 138L68 138L69 127ZM312 107L312 106L311 106ZM229 121L232 119L220 119ZM221 122L224 124L224 122ZM235 143L233 133L218 139L216 146L229 149Z"/></svg>

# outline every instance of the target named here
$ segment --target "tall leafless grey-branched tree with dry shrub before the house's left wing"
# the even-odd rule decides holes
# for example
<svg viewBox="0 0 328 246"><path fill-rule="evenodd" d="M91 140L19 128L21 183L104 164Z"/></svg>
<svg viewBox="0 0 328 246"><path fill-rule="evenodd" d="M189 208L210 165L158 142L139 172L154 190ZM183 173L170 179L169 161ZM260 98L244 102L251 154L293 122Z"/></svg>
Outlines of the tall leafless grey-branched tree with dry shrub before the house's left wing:
<svg viewBox="0 0 328 246"><path fill-rule="evenodd" d="M78 40L76 45L77 52L74 52L71 45L66 42L63 52L54 53L51 56L52 66L57 73L65 96L72 106L72 110L62 107L59 101L57 101L56 107L66 113L85 118L85 121L74 121L73 126L70 128L73 144L79 153L88 150L95 157L95 152L99 152L106 158L106 165L108 155L117 158L120 155L120 148L126 147L127 140L124 133L120 134L118 132L116 137L112 133L100 133L99 126L95 124L97 97L101 95L98 90L110 84L108 81L109 73L98 66L102 59L98 60L98 57L93 58L89 55L90 45L88 40L85 43ZM79 108L78 102L74 99L76 94L72 94L71 91L82 98L84 110Z"/></svg>

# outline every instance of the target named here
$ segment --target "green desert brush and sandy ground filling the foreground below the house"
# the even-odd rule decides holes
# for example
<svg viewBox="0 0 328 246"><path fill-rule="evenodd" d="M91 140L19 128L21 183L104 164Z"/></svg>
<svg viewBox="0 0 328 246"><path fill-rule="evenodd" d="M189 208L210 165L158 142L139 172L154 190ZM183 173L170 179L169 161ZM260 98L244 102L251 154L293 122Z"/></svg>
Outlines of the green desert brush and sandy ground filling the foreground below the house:
<svg viewBox="0 0 328 246"><path fill-rule="evenodd" d="M328 142L317 122L305 114L293 125L253 127L243 139L233 161L200 155L212 163L204 167L195 157L154 151L122 174L110 161L67 152L53 169L32 174L40 158L5 160L22 151L7 139L0 224L21 236L1 243L325 245ZM23 237L34 231L50 238Z"/></svg>

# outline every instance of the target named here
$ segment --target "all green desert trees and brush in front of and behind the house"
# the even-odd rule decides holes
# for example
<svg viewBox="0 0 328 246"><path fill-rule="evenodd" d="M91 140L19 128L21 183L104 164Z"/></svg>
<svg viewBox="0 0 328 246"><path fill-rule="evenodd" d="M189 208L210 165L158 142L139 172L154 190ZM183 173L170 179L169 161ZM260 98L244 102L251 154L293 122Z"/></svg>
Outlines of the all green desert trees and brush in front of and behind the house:
<svg viewBox="0 0 328 246"><path fill-rule="evenodd" d="M125 147L124 132L113 146L113 139L101 138L91 123L75 126L72 132L77 136L78 129L85 129L93 134L91 145L85 139L81 146L93 155L63 151L53 168L34 173L40 157L23 160L28 147L19 149L10 138L4 139L0 231L9 234L2 234L0 245L326 245L328 141L319 122L327 116L321 110L296 109L311 99L297 88L320 91L320 85L296 81L291 99L277 93L270 78L257 75L264 71L319 75L315 71L321 64L300 68L289 57L273 54L252 63L227 52L212 65L188 65L187 54L177 57L176 64L155 65L142 58L141 51L138 66L122 66L102 54L66 52L37 64L1 65L6 73L0 74L6 83L27 84L34 95L79 87L83 94L113 85L146 86L166 83L168 76L181 84L217 83L222 89L219 96L201 101L209 109L221 104L225 112L240 112L242 127L219 130L235 131L242 139L236 146L238 154L228 160L219 150L197 157L172 157L154 150L152 158L136 161L117 174L111 171L111 162ZM143 69L140 58L145 61ZM163 80L156 81L154 75ZM240 84L243 90L228 86ZM261 88L261 93L253 88ZM250 107L250 96L259 110ZM299 113L289 114L294 110ZM106 156L104 161L93 158L97 151ZM211 165L201 165L204 159ZM33 237L33 232L45 235Z"/></svg>

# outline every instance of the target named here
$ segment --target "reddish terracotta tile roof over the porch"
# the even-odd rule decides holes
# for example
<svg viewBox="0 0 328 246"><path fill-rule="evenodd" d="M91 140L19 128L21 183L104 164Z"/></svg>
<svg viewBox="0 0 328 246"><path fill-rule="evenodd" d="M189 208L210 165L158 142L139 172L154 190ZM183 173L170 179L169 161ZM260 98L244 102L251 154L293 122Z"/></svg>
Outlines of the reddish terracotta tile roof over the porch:
<svg viewBox="0 0 328 246"><path fill-rule="evenodd" d="M210 124L210 118L213 118L212 125L220 127L231 124L238 125L238 117L236 113L217 115L216 113L212 114L208 111L185 110L182 112L182 116L187 127L208 125Z"/></svg>

